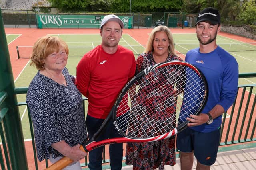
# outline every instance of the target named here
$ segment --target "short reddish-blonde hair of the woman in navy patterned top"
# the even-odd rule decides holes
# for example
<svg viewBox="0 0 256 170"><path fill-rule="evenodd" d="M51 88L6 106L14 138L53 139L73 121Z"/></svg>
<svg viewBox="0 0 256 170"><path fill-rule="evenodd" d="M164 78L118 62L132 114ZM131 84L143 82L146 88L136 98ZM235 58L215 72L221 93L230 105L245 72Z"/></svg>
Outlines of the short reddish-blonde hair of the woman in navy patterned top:
<svg viewBox="0 0 256 170"><path fill-rule="evenodd" d="M36 66L38 70L44 70L44 59L55 51L58 53L61 48L64 48L68 55L68 45L62 39L52 36L39 38L33 46L30 65Z"/></svg>

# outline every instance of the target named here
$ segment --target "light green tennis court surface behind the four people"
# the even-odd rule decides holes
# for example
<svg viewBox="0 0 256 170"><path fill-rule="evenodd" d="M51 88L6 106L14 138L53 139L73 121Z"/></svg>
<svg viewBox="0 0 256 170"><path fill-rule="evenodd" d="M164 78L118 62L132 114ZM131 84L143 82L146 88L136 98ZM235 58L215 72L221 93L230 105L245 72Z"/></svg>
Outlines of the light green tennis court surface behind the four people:
<svg viewBox="0 0 256 170"><path fill-rule="evenodd" d="M19 35L8 35L8 42L13 41ZM82 58L82 56L101 44L102 38L99 34L58 34L53 35L62 38L69 46L70 55L68 58L67 68L72 75L76 75L76 65ZM187 34L173 34L175 48L178 51L177 54L186 55L186 52L190 49L198 47L198 40L196 38L195 33L187 33ZM147 39L148 37L145 37ZM229 51L238 61L239 64L239 72L240 73L248 73L248 72L256 72L256 58L253 54L256 51L256 45L250 43L242 43L240 41L230 39L227 37L217 36L217 43ZM133 37L128 34L123 34L122 39L120 39L120 45L131 49L134 52L135 57L138 54L144 51L145 45L141 45L136 41ZM27 56L23 56L23 53L28 55L31 53L32 47L22 47L19 48L19 53L21 58L25 58ZM25 51L25 52L24 52ZM25 66L24 70L22 70L20 76L16 79L15 86L16 87L28 87L32 78L35 76L37 70L33 66L30 66L29 63ZM242 78L239 80L239 84L252 84L256 83L256 78ZM26 99L26 94L21 94L17 96L18 102L24 102ZM26 106L20 106L20 117L22 119L22 128L24 132L24 138L30 139L30 129L28 123L28 113Z"/></svg>

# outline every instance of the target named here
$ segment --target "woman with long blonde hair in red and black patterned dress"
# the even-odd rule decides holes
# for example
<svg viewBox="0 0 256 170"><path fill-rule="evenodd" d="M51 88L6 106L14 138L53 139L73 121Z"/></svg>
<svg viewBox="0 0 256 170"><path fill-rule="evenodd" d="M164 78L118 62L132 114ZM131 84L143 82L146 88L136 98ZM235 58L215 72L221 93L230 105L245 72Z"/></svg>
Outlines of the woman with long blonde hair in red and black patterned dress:
<svg viewBox="0 0 256 170"><path fill-rule="evenodd" d="M172 60L182 59L176 56L170 29L160 25L151 31L144 53L136 60L136 74L154 64ZM132 164L133 170L163 170L164 165L174 165L175 137L152 143L127 143L126 164Z"/></svg>

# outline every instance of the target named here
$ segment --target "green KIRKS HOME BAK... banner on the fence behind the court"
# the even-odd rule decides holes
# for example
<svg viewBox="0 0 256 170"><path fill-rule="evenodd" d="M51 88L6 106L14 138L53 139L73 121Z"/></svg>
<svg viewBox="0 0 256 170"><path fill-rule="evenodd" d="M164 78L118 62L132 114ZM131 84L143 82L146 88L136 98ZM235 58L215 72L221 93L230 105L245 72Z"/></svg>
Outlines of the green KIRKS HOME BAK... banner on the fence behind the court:
<svg viewBox="0 0 256 170"><path fill-rule="evenodd" d="M119 17L124 23L124 28L128 28L129 17ZM100 28L104 16L37 14L36 18L38 27L42 28Z"/></svg>

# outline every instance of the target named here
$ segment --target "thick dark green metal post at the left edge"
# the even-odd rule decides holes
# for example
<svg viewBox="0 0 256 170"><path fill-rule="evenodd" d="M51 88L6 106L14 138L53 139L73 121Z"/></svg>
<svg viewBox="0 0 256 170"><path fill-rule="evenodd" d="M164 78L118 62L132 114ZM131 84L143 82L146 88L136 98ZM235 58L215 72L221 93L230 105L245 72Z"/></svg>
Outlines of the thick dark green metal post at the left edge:
<svg viewBox="0 0 256 170"><path fill-rule="evenodd" d="M14 94L14 80L0 8L0 92L1 91L6 92L8 95L3 103L3 106L8 108L8 113L4 117L3 123L6 131L6 142L12 170L28 170L24 137L18 106L16 106L17 98Z"/></svg>

